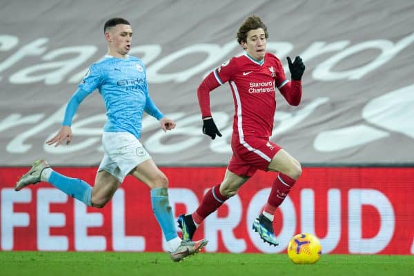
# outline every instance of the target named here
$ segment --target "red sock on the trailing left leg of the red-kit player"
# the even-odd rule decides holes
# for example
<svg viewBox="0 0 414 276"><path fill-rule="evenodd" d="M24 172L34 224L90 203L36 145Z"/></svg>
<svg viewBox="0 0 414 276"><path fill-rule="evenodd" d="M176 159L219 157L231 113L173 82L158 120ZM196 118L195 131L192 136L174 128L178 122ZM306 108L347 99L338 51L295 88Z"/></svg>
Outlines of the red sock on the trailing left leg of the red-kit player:
<svg viewBox="0 0 414 276"><path fill-rule="evenodd" d="M201 224L208 215L217 210L226 200L227 198L220 193L220 184L214 186L201 199L201 204L192 215L193 221L196 224Z"/></svg>

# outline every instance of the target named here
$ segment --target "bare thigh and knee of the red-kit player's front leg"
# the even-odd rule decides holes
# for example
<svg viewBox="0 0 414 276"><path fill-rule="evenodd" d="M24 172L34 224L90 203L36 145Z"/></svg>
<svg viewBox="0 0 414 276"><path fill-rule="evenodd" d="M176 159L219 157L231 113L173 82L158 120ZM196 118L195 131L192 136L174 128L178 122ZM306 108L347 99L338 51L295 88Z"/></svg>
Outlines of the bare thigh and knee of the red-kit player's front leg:
<svg viewBox="0 0 414 276"><path fill-rule="evenodd" d="M299 161L292 155L289 155L286 150L279 150L268 166L268 170L282 172L293 179L297 179L302 174L302 168Z"/></svg>

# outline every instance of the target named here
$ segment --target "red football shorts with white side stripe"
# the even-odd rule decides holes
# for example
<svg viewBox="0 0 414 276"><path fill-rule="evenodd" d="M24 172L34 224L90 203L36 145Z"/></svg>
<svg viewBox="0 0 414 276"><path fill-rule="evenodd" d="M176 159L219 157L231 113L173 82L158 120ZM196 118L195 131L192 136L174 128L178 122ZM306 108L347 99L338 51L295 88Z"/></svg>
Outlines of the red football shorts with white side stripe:
<svg viewBox="0 0 414 276"><path fill-rule="evenodd" d="M281 149L267 138L233 136L231 139L233 156L228 170L239 176L253 177L257 170L268 170L270 161Z"/></svg>

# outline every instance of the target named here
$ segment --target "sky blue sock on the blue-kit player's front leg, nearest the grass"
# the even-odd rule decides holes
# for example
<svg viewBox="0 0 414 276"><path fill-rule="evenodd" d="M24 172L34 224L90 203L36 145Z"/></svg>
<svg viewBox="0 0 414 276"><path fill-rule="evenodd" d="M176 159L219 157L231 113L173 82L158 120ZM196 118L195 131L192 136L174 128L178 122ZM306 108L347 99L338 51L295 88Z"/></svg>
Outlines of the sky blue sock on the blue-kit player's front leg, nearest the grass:
<svg viewBox="0 0 414 276"><path fill-rule="evenodd" d="M154 212L158 224L161 226L166 241L178 237L170 202L168 201L167 188L151 189L151 204L152 212Z"/></svg>

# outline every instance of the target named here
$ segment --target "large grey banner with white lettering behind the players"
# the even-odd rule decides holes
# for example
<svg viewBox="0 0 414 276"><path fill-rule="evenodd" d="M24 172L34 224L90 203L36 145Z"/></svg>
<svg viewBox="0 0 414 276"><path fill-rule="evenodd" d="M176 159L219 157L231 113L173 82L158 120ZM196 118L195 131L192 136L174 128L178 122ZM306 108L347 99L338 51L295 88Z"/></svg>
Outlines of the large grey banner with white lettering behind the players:
<svg viewBox="0 0 414 276"><path fill-rule="evenodd" d="M268 51L306 64L302 103L277 95L272 141L304 164L414 164L412 1L2 1L0 166L97 165L106 117L99 94L83 101L70 146L44 141L59 129L84 72L106 52L103 23L126 17L131 55L147 66L150 94L177 121L165 134L144 118L142 142L161 165L217 165L230 159L233 98L212 94L223 137L201 133L196 91L233 55L240 23L257 14ZM287 66L286 66L287 68ZM290 74L287 72L290 77Z"/></svg>

